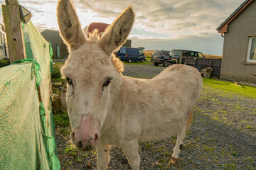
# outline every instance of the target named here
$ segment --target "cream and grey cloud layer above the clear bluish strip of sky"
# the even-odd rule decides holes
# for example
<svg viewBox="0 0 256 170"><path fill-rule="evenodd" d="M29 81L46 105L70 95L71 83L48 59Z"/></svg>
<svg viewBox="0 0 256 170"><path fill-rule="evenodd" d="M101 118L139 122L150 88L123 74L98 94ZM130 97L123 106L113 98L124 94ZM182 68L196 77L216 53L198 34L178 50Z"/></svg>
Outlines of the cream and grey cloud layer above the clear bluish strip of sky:
<svg viewBox="0 0 256 170"><path fill-rule="evenodd" d="M91 22L112 23L127 6L136 13L134 29L161 33L166 38L182 35L218 35L215 30L243 0L74 0L82 26ZM0 1L4 3L4 1ZM57 1L21 1L33 13L33 23L58 29ZM49 22L49 23L48 23ZM206 34L202 34L206 33Z"/></svg>

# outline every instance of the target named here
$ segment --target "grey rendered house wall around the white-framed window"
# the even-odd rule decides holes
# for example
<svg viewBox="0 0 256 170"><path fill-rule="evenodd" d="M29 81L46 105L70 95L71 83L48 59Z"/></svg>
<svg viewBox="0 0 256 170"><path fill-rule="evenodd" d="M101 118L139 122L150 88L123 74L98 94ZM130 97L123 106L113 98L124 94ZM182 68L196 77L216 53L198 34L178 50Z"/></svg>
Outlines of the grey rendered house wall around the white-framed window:
<svg viewBox="0 0 256 170"><path fill-rule="evenodd" d="M220 79L256 84L255 64L245 64L250 36L256 36L256 1L229 24L224 35Z"/></svg>

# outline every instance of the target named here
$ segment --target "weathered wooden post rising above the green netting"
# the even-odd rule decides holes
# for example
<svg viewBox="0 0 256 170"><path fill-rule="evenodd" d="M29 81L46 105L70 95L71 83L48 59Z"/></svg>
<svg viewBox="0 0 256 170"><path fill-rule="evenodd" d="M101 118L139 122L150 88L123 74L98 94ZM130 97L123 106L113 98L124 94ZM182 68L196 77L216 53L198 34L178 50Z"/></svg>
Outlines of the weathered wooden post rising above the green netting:
<svg viewBox="0 0 256 170"><path fill-rule="evenodd" d="M18 1L9 0L9 5L2 5L2 10L10 62L26 59Z"/></svg>

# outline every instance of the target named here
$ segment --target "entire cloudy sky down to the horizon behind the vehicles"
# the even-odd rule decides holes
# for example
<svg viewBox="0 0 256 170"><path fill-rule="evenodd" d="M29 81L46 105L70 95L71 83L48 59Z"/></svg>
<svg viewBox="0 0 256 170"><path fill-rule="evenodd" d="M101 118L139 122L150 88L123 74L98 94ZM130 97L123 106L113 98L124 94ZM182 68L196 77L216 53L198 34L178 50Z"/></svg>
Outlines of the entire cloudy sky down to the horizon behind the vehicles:
<svg viewBox="0 0 256 170"><path fill-rule="evenodd" d="M216 30L245 0L74 0L84 28L92 22L112 23L127 6L136 19L129 39L132 47L145 50L198 50L222 55L223 38ZM57 0L20 0L33 14L39 31L58 30ZM0 0L0 4L4 4ZM2 21L2 18L0 18Z"/></svg>

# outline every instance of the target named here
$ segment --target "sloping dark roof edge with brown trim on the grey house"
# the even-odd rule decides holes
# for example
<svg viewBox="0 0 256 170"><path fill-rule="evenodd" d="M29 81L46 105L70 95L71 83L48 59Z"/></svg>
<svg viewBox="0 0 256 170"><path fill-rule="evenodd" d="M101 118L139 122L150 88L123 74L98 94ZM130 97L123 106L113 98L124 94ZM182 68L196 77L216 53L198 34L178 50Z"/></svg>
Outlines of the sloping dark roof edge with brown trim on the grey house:
<svg viewBox="0 0 256 170"><path fill-rule="evenodd" d="M232 21L235 20L245 9L252 4L255 0L245 0L238 8L235 9L231 15L225 19L223 23L220 24L220 26L217 28L218 33L227 33L228 32L228 25Z"/></svg>

